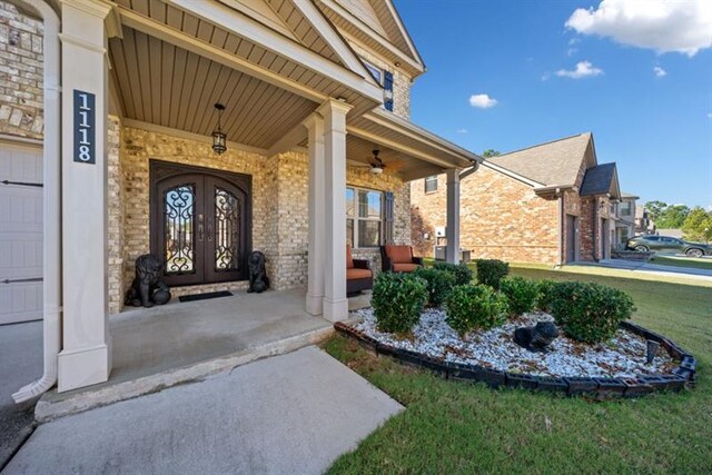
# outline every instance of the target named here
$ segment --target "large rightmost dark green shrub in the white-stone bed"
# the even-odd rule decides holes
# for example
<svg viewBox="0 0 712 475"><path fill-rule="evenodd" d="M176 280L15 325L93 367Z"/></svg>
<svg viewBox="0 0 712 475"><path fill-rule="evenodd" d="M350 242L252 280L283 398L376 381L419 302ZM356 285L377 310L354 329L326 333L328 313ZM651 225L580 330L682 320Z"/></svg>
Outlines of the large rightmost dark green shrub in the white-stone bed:
<svg viewBox="0 0 712 475"><path fill-rule="evenodd" d="M564 334L583 343L601 343L635 310L633 299L619 289L593 283L554 286L552 315Z"/></svg>

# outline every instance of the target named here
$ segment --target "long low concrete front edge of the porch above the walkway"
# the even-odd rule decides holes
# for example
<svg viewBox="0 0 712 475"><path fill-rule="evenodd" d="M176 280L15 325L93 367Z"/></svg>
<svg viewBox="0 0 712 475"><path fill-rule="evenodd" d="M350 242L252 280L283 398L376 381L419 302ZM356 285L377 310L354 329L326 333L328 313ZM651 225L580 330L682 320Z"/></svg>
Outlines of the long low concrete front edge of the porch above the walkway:
<svg viewBox="0 0 712 475"><path fill-rule="evenodd" d="M39 423L44 423L95 407L107 406L146 394L158 393L176 385L202 380L257 359L283 355L305 346L315 345L328 338L333 333L334 327L328 325L276 342L265 343L230 355L207 359L132 380L115 384L111 384L109 380L100 385L61 394L53 389L46 393L37 403L34 407L34 419Z"/></svg>

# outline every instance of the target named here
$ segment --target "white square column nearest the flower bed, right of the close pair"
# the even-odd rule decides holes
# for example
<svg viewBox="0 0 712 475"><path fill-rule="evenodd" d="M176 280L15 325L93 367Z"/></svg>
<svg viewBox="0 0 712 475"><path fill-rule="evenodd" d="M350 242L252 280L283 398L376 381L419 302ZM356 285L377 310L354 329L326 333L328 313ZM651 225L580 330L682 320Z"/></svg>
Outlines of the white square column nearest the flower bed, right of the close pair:
<svg viewBox="0 0 712 475"><path fill-rule="evenodd" d="M352 106L337 100L325 102L325 257L324 318L338 321L348 317L346 298L346 113Z"/></svg>

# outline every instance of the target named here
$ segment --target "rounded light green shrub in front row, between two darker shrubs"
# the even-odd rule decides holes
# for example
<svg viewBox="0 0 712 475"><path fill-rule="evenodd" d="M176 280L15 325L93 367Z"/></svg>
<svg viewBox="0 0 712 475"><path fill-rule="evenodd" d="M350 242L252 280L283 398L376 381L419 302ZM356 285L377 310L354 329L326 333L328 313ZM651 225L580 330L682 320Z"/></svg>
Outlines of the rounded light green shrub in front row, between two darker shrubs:
<svg viewBox="0 0 712 475"><path fill-rule="evenodd" d="M483 285L455 287L445 301L447 324L461 336L476 329L488 329L506 320L506 298Z"/></svg>

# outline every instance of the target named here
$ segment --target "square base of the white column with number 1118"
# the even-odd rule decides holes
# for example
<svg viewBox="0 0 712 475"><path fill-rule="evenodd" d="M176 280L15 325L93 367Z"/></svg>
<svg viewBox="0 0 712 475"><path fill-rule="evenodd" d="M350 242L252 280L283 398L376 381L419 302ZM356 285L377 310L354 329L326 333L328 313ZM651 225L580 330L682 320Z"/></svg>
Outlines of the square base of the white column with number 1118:
<svg viewBox="0 0 712 475"><path fill-rule="evenodd" d="M109 379L111 344L60 352L57 390L76 389Z"/></svg>

